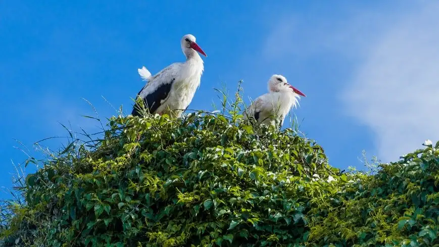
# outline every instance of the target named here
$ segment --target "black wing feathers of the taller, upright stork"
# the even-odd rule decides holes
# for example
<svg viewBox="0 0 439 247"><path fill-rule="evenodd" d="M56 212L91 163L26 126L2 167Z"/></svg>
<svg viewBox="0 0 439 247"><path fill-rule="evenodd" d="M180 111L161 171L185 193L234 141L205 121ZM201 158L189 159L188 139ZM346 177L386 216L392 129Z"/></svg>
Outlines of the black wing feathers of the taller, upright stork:
<svg viewBox="0 0 439 247"><path fill-rule="evenodd" d="M149 113L154 114L157 111L157 109L161 106L161 101L164 100L169 95L169 92L171 91L171 87L174 81L175 78L173 78L172 81L169 83L163 83L161 86L157 87L155 91L151 92L150 94L142 98L143 104L145 108L147 108ZM142 90L143 89L144 88L142 88ZM140 90L137 93L137 96L140 94L142 90ZM140 116L140 108L137 106L137 104L134 105L131 115Z"/></svg>

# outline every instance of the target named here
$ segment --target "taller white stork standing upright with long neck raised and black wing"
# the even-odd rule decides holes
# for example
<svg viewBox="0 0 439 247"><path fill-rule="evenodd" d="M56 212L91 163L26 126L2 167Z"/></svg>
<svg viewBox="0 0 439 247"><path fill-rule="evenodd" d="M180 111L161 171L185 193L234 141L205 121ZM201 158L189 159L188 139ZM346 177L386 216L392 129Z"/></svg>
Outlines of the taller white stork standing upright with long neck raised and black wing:
<svg viewBox="0 0 439 247"><path fill-rule="evenodd" d="M203 60L197 52L207 56L191 34L181 38L181 49L186 56L184 63L173 63L154 76L145 67L138 69L140 76L148 82L137 97L142 99L149 113L180 117L192 101L204 70ZM140 116L140 109L134 104L131 114Z"/></svg>

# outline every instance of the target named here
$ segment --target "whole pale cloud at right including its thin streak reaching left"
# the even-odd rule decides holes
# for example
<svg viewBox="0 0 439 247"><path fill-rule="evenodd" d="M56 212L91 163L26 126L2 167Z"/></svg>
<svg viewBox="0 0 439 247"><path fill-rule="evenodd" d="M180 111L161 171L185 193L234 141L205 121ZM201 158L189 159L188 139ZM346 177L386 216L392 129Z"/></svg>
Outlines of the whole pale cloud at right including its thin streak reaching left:
<svg viewBox="0 0 439 247"><path fill-rule="evenodd" d="M283 62L330 54L346 66L339 111L372 130L385 162L439 139L439 3L386 3L348 6L311 23L289 15L273 25L263 50Z"/></svg>

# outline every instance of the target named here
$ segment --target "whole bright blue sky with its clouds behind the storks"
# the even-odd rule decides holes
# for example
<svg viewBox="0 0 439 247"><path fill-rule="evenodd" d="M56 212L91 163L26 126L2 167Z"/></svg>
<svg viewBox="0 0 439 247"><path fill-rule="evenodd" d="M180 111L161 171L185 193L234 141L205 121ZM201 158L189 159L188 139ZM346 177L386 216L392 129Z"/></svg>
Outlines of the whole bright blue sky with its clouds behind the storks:
<svg viewBox="0 0 439 247"><path fill-rule="evenodd" d="M428 1L2 1L0 2L0 186L26 156L21 141L86 130L116 108L131 111L153 74L184 57L191 33L207 53L191 109L212 110L214 87L243 79L245 96L282 74L307 94L301 130L338 168L361 167L361 152L395 161L439 137L439 5ZM65 139L44 144L58 147ZM32 172L34 168L27 168Z"/></svg>

